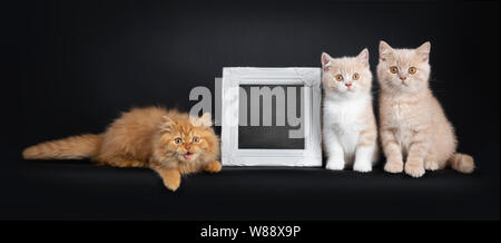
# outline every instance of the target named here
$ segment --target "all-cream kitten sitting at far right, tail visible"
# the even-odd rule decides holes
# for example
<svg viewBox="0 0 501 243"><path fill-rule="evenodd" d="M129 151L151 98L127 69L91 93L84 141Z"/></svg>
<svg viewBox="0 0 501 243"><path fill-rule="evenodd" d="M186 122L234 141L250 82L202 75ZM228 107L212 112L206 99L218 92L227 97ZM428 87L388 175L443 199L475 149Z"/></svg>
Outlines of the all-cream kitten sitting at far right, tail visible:
<svg viewBox="0 0 501 243"><path fill-rule="evenodd" d="M384 169L420 177L425 169L445 167L472 173L473 158L455 153L454 128L429 88L430 42L416 49L380 43L380 136ZM405 168L404 168L404 159Z"/></svg>

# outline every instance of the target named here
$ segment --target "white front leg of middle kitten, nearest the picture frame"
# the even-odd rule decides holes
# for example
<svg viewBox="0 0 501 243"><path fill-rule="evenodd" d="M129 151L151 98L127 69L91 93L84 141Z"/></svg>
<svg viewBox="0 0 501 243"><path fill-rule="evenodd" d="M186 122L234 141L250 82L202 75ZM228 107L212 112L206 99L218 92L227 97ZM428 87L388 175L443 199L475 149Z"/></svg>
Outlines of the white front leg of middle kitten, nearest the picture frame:
<svg viewBox="0 0 501 243"><path fill-rule="evenodd" d="M324 143L328 157L325 168L332 171L344 169L344 150L337 139L337 135L332 130L332 128L324 129Z"/></svg>

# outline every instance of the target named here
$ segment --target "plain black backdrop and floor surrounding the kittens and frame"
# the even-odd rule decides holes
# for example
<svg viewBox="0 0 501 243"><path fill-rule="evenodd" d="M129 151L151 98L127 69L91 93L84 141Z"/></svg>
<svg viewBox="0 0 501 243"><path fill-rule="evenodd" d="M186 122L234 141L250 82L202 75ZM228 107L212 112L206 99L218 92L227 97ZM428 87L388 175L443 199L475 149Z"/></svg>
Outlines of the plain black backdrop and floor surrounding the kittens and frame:
<svg viewBox="0 0 501 243"><path fill-rule="evenodd" d="M499 2L17 1L2 6L0 218L499 220ZM24 162L23 147L100 133L120 110L188 109L227 66L320 67L432 42L431 87L478 171L421 179L298 168L191 175ZM374 94L379 86L374 85Z"/></svg>

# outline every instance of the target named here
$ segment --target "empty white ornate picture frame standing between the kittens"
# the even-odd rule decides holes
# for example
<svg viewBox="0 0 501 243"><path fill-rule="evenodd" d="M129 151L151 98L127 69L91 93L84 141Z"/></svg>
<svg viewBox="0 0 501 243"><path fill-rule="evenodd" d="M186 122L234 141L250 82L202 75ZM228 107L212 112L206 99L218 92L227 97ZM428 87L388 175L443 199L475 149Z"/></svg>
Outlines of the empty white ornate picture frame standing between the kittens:
<svg viewBox="0 0 501 243"><path fill-rule="evenodd" d="M224 166L322 166L321 68L223 68L222 163ZM304 149L238 148L240 85L304 87Z"/></svg>

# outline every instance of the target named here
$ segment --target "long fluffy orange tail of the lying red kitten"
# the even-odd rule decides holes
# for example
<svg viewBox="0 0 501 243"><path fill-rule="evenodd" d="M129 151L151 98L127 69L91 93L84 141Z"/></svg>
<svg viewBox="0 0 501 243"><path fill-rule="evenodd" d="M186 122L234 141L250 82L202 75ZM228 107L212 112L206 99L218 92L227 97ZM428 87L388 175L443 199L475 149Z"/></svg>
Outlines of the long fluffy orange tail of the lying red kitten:
<svg viewBox="0 0 501 243"><path fill-rule="evenodd" d="M85 134L59 140L49 140L27 147L24 159L79 159L95 157L99 153L101 135Z"/></svg>

